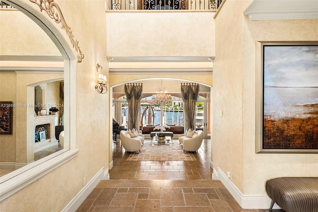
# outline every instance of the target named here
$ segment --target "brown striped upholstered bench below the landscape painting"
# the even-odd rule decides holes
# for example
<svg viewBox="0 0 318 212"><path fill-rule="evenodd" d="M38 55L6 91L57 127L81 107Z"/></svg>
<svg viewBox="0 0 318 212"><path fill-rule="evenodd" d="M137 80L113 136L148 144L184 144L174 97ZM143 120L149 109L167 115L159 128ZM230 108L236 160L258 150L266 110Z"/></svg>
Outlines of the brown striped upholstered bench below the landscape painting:
<svg viewBox="0 0 318 212"><path fill-rule="evenodd" d="M281 177L266 181L266 192L286 212L318 212L318 177Z"/></svg>

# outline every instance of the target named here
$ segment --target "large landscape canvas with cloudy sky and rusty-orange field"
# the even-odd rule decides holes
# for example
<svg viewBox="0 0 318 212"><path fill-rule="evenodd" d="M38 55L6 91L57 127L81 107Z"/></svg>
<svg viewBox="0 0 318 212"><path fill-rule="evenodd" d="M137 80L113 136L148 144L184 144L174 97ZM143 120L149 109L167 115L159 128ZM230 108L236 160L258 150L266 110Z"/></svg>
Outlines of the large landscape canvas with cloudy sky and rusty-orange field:
<svg viewBox="0 0 318 212"><path fill-rule="evenodd" d="M318 45L263 45L262 127L263 149L318 150Z"/></svg>

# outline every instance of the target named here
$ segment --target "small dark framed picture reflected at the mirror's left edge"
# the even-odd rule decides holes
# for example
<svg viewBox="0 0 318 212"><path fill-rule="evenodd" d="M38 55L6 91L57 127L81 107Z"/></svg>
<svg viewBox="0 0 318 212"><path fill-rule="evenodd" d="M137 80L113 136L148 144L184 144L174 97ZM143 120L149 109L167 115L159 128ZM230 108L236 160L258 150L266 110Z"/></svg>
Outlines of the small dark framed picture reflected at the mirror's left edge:
<svg viewBox="0 0 318 212"><path fill-rule="evenodd" d="M12 102L0 102L0 134L12 135L12 110Z"/></svg>

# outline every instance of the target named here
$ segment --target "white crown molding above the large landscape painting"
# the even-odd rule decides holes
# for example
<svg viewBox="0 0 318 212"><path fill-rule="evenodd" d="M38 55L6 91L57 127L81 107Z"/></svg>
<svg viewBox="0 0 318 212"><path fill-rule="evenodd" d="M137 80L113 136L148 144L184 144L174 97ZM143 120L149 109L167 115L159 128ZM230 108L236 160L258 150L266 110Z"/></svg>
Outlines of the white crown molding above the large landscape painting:
<svg viewBox="0 0 318 212"><path fill-rule="evenodd" d="M254 0L243 14L250 20L318 19L318 1Z"/></svg>

